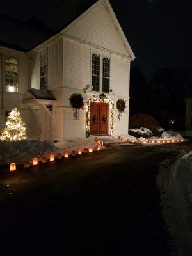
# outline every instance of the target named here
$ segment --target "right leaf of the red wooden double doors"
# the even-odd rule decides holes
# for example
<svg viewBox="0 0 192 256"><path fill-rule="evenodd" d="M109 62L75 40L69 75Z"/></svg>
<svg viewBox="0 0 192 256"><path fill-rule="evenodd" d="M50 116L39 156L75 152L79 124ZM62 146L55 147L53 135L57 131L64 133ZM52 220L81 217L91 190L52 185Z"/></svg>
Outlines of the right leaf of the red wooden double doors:
<svg viewBox="0 0 192 256"><path fill-rule="evenodd" d="M99 124L100 135L108 135L108 123L109 123L109 104L100 103L100 124Z"/></svg>

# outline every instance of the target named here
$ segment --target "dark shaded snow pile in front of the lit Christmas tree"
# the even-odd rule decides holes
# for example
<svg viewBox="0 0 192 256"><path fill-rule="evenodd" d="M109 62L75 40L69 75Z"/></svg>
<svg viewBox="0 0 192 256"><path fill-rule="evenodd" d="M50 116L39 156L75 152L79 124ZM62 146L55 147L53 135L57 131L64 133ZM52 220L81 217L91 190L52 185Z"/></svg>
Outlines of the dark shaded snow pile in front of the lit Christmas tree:
<svg viewBox="0 0 192 256"><path fill-rule="evenodd" d="M20 140L20 141L0 141L0 163L23 164L31 161L33 157L43 156L56 150L51 141L40 140Z"/></svg>

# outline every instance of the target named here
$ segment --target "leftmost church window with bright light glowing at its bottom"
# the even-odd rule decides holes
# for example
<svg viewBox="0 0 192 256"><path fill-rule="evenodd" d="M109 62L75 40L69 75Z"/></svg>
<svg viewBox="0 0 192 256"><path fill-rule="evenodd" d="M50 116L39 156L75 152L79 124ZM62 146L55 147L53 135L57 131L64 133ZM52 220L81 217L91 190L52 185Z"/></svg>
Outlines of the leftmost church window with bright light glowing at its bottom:
<svg viewBox="0 0 192 256"><path fill-rule="evenodd" d="M18 92L18 60L11 57L4 59L5 92Z"/></svg>

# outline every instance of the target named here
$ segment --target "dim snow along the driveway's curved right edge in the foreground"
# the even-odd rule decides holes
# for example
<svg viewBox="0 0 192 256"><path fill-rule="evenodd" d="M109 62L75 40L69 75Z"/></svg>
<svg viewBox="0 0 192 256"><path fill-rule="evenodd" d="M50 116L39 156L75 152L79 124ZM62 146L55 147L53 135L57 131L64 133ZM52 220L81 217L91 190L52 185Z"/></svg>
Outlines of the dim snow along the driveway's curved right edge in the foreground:
<svg viewBox="0 0 192 256"><path fill-rule="evenodd" d="M166 226L173 237L174 255L191 255L192 152L180 157L171 168L170 163L164 166L162 164L157 184Z"/></svg>

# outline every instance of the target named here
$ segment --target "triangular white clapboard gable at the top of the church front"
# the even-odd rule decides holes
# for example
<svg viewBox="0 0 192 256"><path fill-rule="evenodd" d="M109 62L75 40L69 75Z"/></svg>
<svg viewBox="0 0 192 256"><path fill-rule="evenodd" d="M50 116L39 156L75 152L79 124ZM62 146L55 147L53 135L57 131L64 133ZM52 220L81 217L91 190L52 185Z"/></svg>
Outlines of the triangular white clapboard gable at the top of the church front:
<svg viewBox="0 0 192 256"><path fill-rule="evenodd" d="M66 33L91 44L130 56L120 34L116 31L111 14L107 12L103 3L98 4Z"/></svg>

